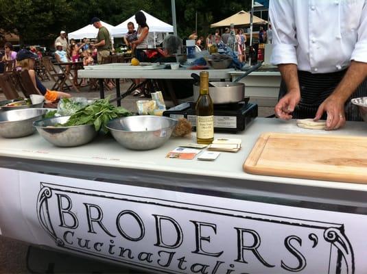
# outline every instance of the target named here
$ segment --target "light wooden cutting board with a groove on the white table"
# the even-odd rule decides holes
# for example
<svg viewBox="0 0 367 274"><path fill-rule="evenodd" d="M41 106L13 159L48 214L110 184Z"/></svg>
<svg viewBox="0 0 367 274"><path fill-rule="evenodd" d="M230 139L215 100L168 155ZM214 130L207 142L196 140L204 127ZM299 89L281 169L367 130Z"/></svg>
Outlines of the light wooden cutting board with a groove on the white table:
<svg viewBox="0 0 367 274"><path fill-rule="evenodd" d="M367 137L261 134L244 171L367 184Z"/></svg>

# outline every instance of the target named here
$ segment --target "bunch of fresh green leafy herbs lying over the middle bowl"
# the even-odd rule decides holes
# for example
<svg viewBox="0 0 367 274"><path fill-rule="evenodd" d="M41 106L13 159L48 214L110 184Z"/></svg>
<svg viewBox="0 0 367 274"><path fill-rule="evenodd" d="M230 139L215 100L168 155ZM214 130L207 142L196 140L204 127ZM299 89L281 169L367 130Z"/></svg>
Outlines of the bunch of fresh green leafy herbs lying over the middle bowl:
<svg viewBox="0 0 367 274"><path fill-rule="evenodd" d="M102 132L106 134L108 132L106 127L108 121L130 115L132 114L125 108L111 105L108 98L99 99L91 105L87 105L86 107L72 114L67 123L62 124L62 126L69 127L74 125L94 124L96 132L101 129Z"/></svg>

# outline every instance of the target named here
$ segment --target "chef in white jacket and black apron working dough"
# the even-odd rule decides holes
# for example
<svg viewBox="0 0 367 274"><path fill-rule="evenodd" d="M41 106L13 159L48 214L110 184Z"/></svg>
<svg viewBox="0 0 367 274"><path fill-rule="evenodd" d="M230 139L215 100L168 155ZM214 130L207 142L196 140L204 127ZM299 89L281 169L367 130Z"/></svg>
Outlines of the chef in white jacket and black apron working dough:
<svg viewBox="0 0 367 274"><path fill-rule="evenodd" d="M281 119L359 121L351 98L367 96L367 0L271 0L272 64Z"/></svg>

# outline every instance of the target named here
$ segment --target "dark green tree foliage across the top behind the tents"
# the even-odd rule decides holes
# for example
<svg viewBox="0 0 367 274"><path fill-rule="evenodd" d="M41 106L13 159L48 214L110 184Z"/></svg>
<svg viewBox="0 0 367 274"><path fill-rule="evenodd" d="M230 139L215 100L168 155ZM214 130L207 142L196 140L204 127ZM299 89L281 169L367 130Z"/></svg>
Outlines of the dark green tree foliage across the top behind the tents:
<svg viewBox="0 0 367 274"><path fill-rule="evenodd" d="M176 0L178 34L185 38L196 29L206 36L210 24L239 10L248 10L250 0ZM117 25L138 10L172 23L171 0L0 0L0 32L15 32L24 42L53 40L61 29L73 32L93 16ZM1 33L0 33L1 35Z"/></svg>

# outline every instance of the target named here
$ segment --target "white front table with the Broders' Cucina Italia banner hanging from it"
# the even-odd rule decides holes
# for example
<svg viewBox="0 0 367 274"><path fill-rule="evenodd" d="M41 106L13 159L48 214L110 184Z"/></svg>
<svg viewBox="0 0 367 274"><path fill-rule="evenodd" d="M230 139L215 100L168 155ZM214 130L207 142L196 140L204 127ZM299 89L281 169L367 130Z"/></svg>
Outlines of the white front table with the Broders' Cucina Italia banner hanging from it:
<svg viewBox="0 0 367 274"><path fill-rule="evenodd" d="M161 266L169 255L161 252L158 256L163 250L176 252L176 262L185 256L189 266L200 262L211 271L220 261L226 267L233 264L236 273L287 273L279 262L296 267L298 261L284 246L285 238L297 236L302 248L296 238L287 239L307 259L300 273L336 269L338 264L342 273L347 273L346 266L363 273L367 267L366 241L361 240L367 229L367 184L244 173L242 164L263 132L367 137L367 123L347 122L343 129L325 132L300 129L294 121L257 118L246 132L215 134L215 138L242 140L238 153L221 153L215 162L165 158L171 149L191 142L187 138L171 138L152 151L130 151L102 136L75 148L54 147L38 134L1 138L0 234L156 273L182 273L177 264ZM141 239L140 222L145 228ZM261 237L258 251L274 267L264 266L246 247L242 255L248 264L234 261L240 252L238 227L250 229L241 230L250 242ZM163 229L163 234L156 234L156 229ZM333 244L329 238L333 233L343 245ZM176 234L183 236L182 242ZM157 238L160 235L164 240ZM84 244L90 240L91 248L80 247L78 238ZM115 254L108 252L111 241ZM195 253L198 242L201 252ZM250 242L241 245L250 246ZM119 247L130 249L134 258L119 256ZM345 261L335 253L344 252L344 247L349 250ZM152 253L154 260L139 260L143 251ZM203 255L204 251L224 253L214 257Z"/></svg>

